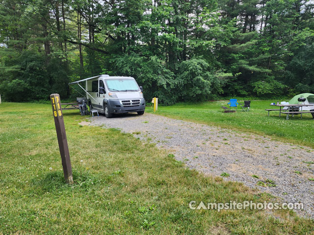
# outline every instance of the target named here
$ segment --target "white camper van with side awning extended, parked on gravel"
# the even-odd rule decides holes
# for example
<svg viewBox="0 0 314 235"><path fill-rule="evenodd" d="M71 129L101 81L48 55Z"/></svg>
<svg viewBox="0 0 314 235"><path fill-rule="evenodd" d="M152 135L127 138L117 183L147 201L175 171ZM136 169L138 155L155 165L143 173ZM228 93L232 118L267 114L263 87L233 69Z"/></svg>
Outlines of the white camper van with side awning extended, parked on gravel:
<svg viewBox="0 0 314 235"><path fill-rule="evenodd" d="M85 82L85 89L79 82ZM145 112L143 89L133 77L103 74L69 84L78 84L86 92L90 109L104 113L106 118L111 118L113 114L137 112L143 115Z"/></svg>

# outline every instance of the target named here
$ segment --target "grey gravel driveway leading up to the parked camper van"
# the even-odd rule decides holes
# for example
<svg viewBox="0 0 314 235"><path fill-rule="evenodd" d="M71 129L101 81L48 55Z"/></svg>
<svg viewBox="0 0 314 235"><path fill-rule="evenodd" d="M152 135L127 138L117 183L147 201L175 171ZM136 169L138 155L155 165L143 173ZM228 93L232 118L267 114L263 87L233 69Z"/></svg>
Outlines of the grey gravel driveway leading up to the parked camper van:
<svg viewBox="0 0 314 235"><path fill-rule="evenodd" d="M226 172L230 175L226 180L243 182L286 202L302 202L305 210L299 213L314 218L314 181L309 180L314 178L314 149L154 114L90 119L85 124L118 128L142 140L150 138L177 160L205 174Z"/></svg>

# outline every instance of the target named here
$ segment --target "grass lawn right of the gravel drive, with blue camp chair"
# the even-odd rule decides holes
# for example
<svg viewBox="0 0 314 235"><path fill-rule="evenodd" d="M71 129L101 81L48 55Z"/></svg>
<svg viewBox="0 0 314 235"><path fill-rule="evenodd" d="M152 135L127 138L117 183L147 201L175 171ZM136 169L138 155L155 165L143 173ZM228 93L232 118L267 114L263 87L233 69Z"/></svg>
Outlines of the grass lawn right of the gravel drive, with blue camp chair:
<svg viewBox="0 0 314 235"><path fill-rule="evenodd" d="M272 102L274 100L252 100L250 112L242 112L241 107L238 107L236 113L223 113L222 110L219 110L221 106L229 107L226 100L179 103L173 106L158 106L156 114L267 135L276 140L313 148L314 120L312 115L303 114L302 119L300 119L300 115L295 115L286 120L286 115L282 114L279 118L279 111L272 111L268 117L268 112L265 109L273 109L269 106ZM147 107L146 112L152 113L152 109Z"/></svg>

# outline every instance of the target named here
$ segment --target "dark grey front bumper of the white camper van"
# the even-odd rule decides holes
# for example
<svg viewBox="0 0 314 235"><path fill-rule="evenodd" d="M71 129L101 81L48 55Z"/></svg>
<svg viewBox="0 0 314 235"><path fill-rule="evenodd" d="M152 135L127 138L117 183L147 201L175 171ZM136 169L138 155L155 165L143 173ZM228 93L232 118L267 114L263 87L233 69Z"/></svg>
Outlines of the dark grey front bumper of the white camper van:
<svg viewBox="0 0 314 235"><path fill-rule="evenodd" d="M118 99L107 100L107 105L112 114L121 114L129 112L140 112L145 110L145 99L140 98L139 105L124 106Z"/></svg>

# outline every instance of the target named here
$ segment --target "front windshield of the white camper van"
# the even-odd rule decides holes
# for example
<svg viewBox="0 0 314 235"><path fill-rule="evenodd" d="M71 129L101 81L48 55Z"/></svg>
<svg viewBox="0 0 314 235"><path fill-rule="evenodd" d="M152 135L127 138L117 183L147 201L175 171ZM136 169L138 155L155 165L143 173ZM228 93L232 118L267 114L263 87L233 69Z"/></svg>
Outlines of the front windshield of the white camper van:
<svg viewBox="0 0 314 235"><path fill-rule="evenodd" d="M137 92L139 88L134 79L117 78L105 79L107 88L112 92Z"/></svg>

